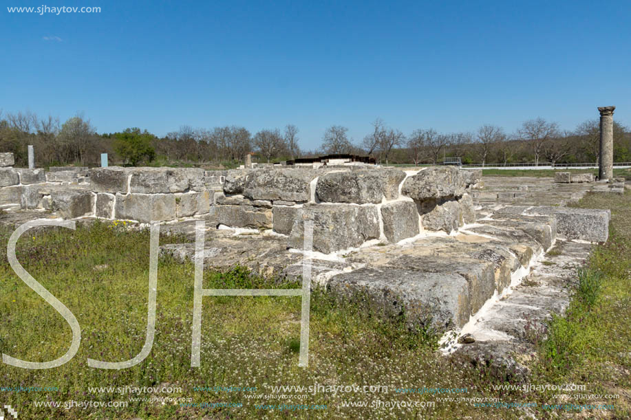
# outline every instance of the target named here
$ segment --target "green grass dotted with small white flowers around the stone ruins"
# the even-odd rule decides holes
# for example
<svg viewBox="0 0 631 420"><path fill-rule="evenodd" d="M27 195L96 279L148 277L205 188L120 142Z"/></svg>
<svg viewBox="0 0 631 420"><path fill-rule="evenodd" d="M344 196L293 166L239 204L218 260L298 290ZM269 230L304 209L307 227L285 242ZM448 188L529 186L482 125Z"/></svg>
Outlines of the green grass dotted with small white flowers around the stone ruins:
<svg viewBox="0 0 631 420"><path fill-rule="evenodd" d="M529 173L531 171L528 171ZM585 394L618 394L600 401L614 410L578 412L584 418L629 418L631 382L631 195L588 195L577 204L612 208L610 241L595 248L570 312L550 323L539 357L531 362L531 384L585 384ZM0 231L6 246L10 230ZM183 238L163 237L161 243ZM117 362L135 356L145 342L149 271L149 232L127 231L109 223L78 225L76 231L47 228L27 232L17 256L30 274L75 314L82 329L81 347L67 364L27 370L2 364L0 387L57 387L53 392L0 391L2 404L19 410L21 419L518 419L515 408L475 407L458 397L496 399L502 403L537 404L537 418L575 417L577 411L541 409L563 404L559 392L494 390L509 384L484 368L460 366L436 352L427 331L408 331L405 320L383 322L374 313L336 302L315 290L311 300L310 359L298 367L300 299L293 297L204 297L202 362L191 368L193 265L160 258L156 338L149 356L120 371L89 368L87 358ZM8 265L0 263L0 349L30 361L52 360L65 353L72 338L68 324ZM599 273L595 275L594 273ZM250 276L244 269L204 274L204 288L290 288L291 283ZM370 391L296 393L272 386L387 386ZM158 386L172 393L131 395L125 386ZM251 387L256 390L195 390L200 387ZM91 387L122 388L91 390ZM397 388L466 388L462 394L397 393ZM383 388L381 388L383 390ZM305 399L260 399L259 395L301 394ZM208 404L181 406L140 401L152 396ZM440 398L453 401L439 401ZM136 401L133 401L136 399ZM122 401L125 408L38 407L39 401ZM377 401L381 401L378 406ZM434 406L403 407L410 401ZM594 404L595 399L571 399ZM240 407L211 404L242 404ZM367 407L345 407L348 404ZM391 408L387 404L396 404ZM312 410L261 409L261 404L321 405ZM373 406L374 405L374 406Z"/></svg>

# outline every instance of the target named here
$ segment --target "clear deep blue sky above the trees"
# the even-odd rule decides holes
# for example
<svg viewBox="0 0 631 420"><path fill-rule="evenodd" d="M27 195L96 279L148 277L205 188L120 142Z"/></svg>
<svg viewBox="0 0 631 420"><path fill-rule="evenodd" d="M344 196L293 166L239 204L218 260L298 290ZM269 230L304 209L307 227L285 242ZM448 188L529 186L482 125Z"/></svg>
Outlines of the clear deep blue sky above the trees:
<svg viewBox="0 0 631 420"><path fill-rule="evenodd" d="M314 148L331 124L354 140L381 117L409 133L564 129L616 105L631 124L629 1L64 0L100 13L0 10L0 108L99 133L128 126L296 124Z"/></svg>

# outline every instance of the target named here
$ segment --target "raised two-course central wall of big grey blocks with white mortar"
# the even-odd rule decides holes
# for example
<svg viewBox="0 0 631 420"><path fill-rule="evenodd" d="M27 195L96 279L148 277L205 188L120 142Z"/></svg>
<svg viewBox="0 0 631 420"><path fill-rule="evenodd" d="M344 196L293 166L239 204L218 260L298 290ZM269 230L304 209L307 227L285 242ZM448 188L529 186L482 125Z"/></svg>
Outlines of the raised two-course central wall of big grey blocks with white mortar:
<svg viewBox="0 0 631 420"><path fill-rule="evenodd" d="M271 229L303 247L303 221L314 222L313 249L328 254L368 241L396 243L423 231L457 231L475 221L467 193L480 170L453 166L274 168L228 171L215 193L217 225Z"/></svg>

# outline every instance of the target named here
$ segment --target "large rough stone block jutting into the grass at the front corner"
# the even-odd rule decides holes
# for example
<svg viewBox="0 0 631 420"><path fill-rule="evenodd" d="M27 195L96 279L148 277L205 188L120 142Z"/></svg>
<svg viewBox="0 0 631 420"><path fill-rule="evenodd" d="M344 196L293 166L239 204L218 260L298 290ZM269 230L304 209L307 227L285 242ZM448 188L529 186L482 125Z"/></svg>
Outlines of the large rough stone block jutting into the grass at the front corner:
<svg viewBox="0 0 631 420"><path fill-rule="evenodd" d="M410 324L438 332L462 327L471 314L469 284L458 274L362 268L334 276L328 288L351 300L366 299L385 316L405 313Z"/></svg>

